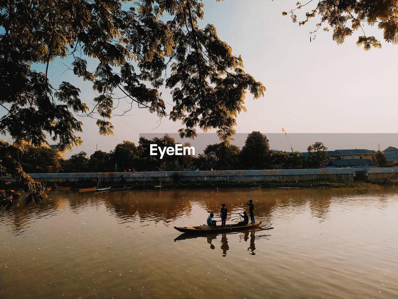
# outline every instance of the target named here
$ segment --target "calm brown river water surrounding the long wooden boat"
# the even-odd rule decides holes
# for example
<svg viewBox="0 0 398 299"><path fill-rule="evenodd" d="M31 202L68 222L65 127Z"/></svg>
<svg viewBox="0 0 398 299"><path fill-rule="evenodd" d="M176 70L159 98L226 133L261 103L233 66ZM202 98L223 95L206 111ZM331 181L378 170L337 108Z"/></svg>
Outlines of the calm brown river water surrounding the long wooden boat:
<svg viewBox="0 0 398 299"><path fill-rule="evenodd" d="M1 214L1 298L397 298L398 187L50 191ZM244 232L189 237L221 203Z"/></svg>

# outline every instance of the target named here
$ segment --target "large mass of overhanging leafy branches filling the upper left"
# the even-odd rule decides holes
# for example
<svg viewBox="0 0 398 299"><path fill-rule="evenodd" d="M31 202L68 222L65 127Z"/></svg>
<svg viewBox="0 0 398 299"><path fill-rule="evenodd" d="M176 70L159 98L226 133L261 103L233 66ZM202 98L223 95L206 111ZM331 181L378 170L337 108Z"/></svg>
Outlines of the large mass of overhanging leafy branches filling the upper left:
<svg viewBox="0 0 398 299"><path fill-rule="evenodd" d="M198 27L204 16L201 0L122 4L0 1L0 105L8 111L0 133L35 146L49 134L60 150L71 149L82 143L75 135L82 122L72 112L98 118L100 134L113 134L109 119L114 101L123 97L159 117L182 121L181 136L196 136L197 126L217 128L224 139L234 134L246 90L259 98L265 88L243 71L242 58L232 54L213 25ZM77 87L51 82L49 64L68 56L74 75L91 82L98 94L92 112ZM96 59L97 67L89 69L88 58ZM158 92L162 85L172 93L170 113Z"/></svg>

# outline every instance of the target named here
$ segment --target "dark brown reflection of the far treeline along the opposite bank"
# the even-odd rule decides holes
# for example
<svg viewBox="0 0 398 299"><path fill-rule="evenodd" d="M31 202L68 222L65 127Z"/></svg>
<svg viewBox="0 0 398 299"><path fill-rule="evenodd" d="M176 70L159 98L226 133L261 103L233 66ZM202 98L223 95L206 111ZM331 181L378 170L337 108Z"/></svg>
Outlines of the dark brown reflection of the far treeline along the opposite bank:
<svg viewBox="0 0 398 299"><path fill-rule="evenodd" d="M249 199L254 201L255 217L260 221L272 221L278 216L275 214L278 210L284 210L283 217L293 218L309 207L311 215L322 222L328 219L332 203L347 203L347 209L351 209L356 204L373 207L376 201L380 208L385 208L388 199L396 195L395 190L384 186L375 189L126 190L103 193L55 190L48 192L45 203L21 206L3 213L0 224L7 222L14 233L21 234L33 219L57 216L65 210L76 214L93 208L99 210L105 205L109 214L119 219L119 224L150 221L178 226L190 218L194 222L185 222L185 225L197 225L205 223L209 212L217 215L223 202L228 204L227 222L231 223L239 220L238 212L247 210ZM364 202L363 199L369 196L372 199Z"/></svg>

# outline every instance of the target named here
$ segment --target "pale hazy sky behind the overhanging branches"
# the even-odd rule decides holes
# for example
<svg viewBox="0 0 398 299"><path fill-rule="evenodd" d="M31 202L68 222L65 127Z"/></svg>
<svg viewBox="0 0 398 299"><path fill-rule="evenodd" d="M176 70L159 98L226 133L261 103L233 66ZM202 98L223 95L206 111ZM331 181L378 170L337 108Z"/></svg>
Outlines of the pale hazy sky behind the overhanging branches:
<svg viewBox="0 0 398 299"><path fill-rule="evenodd" d="M398 45L386 43L377 27L366 27L365 33L381 40L382 48L364 51L355 44L359 31L337 45L332 32L321 28L310 42L309 32L316 28L316 20L298 26L289 15L282 16L283 11L295 7L296 1L204 0L203 3L205 16L199 27L213 24L234 55L242 55L244 70L267 89L263 98L246 95L247 112L237 118L237 133L283 134L281 128L292 134L398 133ZM305 7L298 11L299 20L306 11ZM57 59L50 64L51 83L69 81L82 90L83 100L92 103L95 94L91 85L75 77L64 64L69 65L70 61ZM94 68L96 61L89 61L88 65ZM172 103L170 90L160 91L165 102ZM166 104L168 110L171 107ZM0 113L4 115L4 110ZM137 107L128 116L111 120L114 136L100 136L94 119L79 119L84 123L84 132L78 135L84 143L72 153L91 154L97 145L98 149L109 151L123 140L137 143L140 134L172 134L183 127L167 118L159 123L155 114ZM202 131L199 129L198 133ZM388 146L398 147L397 135L391 136ZM369 149L377 150L377 138L371 144L374 146ZM353 140L343 144L331 142L329 148L337 146L353 148Z"/></svg>

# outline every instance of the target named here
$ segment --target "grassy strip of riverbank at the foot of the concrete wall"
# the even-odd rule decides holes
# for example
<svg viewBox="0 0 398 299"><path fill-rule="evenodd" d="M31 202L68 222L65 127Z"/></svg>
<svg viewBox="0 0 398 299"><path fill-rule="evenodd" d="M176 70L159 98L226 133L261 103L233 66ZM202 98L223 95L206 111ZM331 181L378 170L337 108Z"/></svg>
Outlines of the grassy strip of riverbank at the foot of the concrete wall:
<svg viewBox="0 0 398 299"><path fill-rule="evenodd" d="M59 186L67 186L72 188L95 187L92 183L72 183L69 185L58 184ZM378 183L380 185L380 183ZM55 186L55 183L47 183L47 186ZM129 182L104 184L105 186L125 187L132 186L133 189L245 189L245 188L261 188L261 189L277 189L277 188L369 188L375 187L375 183L364 181L297 181L297 182L230 182L230 181L196 181L196 182Z"/></svg>

